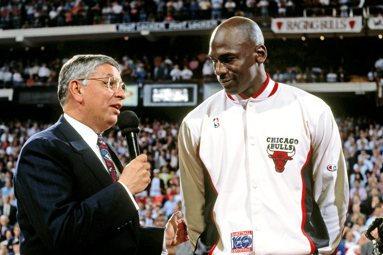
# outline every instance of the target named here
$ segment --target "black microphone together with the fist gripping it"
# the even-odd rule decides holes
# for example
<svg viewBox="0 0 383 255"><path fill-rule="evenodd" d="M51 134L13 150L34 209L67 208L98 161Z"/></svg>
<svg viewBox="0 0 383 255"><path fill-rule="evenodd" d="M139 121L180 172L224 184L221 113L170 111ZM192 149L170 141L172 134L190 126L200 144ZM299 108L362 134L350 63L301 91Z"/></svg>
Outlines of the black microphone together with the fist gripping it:
<svg viewBox="0 0 383 255"><path fill-rule="evenodd" d="M140 155L137 133L139 121L137 115L132 111L123 111L117 117L117 125L121 130L121 135L125 137L127 148L131 156L131 162L127 164L119 181L122 182L129 191L136 195L146 189L150 183L150 164L145 154Z"/></svg>

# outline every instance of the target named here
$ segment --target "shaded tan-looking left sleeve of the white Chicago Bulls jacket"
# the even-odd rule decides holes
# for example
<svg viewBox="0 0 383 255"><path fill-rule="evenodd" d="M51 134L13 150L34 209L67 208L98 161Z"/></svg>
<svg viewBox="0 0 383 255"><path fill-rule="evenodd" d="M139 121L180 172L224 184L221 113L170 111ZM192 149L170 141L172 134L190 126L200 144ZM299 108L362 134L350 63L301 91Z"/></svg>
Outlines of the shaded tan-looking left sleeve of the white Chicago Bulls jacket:
<svg viewBox="0 0 383 255"><path fill-rule="evenodd" d="M204 173L197 155L198 145L198 141L183 122L178 135L180 187L187 232L193 250L206 227Z"/></svg>

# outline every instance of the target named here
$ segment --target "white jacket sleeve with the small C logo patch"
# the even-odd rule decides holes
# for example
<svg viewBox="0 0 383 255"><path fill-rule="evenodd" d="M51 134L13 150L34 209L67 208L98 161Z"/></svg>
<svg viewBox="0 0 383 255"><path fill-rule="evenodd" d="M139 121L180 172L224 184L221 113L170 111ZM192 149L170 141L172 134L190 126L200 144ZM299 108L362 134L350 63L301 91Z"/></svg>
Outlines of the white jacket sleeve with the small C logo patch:
<svg viewBox="0 0 383 255"><path fill-rule="evenodd" d="M329 107L316 120L311 137L313 196L330 237L329 246L319 249L319 252L332 254L342 238L349 206L349 187L341 138Z"/></svg>

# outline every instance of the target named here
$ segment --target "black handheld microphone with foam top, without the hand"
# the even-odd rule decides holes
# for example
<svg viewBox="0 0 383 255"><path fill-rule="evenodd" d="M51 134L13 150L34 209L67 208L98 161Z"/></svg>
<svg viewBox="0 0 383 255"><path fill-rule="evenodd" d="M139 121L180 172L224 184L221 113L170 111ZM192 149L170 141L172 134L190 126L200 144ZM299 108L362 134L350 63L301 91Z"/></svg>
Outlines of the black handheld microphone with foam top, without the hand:
<svg viewBox="0 0 383 255"><path fill-rule="evenodd" d="M140 132L138 124L138 117L132 111L123 111L117 117L117 125L121 129L121 135L125 137L131 160L140 155L137 139L137 134Z"/></svg>

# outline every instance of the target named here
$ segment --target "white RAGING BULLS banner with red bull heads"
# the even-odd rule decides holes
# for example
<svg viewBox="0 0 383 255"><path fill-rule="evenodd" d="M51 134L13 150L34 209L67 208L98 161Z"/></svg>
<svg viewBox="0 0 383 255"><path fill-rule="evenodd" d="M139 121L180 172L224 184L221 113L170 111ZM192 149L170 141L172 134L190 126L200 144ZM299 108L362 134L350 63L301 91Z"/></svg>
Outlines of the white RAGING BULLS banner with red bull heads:
<svg viewBox="0 0 383 255"><path fill-rule="evenodd" d="M274 33L359 33L363 28L362 17L301 17L271 20Z"/></svg>

